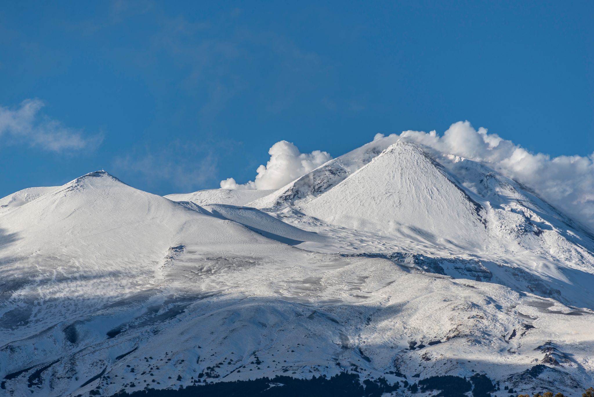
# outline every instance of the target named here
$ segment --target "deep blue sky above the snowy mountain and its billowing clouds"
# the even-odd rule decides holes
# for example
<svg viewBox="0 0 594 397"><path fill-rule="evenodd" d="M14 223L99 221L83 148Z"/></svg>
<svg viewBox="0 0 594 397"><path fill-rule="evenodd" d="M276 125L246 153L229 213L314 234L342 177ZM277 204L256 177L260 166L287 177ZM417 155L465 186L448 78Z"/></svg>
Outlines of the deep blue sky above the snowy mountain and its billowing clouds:
<svg viewBox="0 0 594 397"><path fill-rule="evenodd" d="M244 183L282 139L336 157L459 120L590 155L592 20L590 1L5 2L0 196L102 168L157 194Z"/></svg>

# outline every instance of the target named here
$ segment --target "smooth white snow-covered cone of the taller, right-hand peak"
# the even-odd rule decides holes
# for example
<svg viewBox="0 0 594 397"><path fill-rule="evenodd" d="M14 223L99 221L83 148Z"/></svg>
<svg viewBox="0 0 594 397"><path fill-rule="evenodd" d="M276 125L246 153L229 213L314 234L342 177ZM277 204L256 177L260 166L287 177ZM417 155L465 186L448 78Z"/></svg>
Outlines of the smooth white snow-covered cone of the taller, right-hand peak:
<svg viewBox="0 0 594 397"><path fill-rule="evenodd" d="M482 208L448 179L440 165L405 142L394 143L299 208L349 229L472 251L481 251L485 245Z"/></svg>

